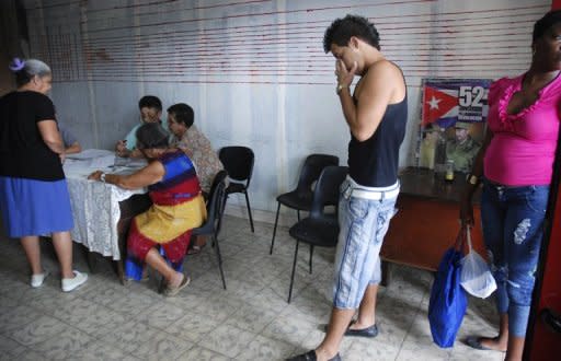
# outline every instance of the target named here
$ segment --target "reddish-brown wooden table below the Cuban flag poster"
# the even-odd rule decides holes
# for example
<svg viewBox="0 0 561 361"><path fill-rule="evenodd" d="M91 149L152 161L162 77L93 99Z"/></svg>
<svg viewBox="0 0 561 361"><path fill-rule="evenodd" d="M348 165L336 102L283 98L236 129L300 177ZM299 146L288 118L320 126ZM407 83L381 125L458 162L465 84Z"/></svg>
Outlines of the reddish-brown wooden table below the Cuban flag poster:
<svg viewBox="0 0 561 361"><path fill-rule="evenodd" d="M459 201L466 174L456 173L455 180L448 183L436 177L433 171L408 167L399 178L401 193L396 206L399 211L390 222L381 259L386 268L387 263L394 263L434 271L460 229ZM471 235L473 247L485 257L479 199L478 190L473 196L476 225Z"/></svg>

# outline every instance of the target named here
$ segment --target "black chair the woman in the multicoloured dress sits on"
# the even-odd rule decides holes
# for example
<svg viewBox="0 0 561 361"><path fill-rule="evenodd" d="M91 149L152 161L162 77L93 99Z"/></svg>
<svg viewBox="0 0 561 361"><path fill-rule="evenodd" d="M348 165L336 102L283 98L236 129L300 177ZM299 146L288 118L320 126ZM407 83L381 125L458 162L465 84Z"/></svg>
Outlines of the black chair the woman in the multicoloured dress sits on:
<svg viewBox="0 0 561 361"><path fill-rule="evenodd" d="M208 202L206 205L207 218L203 225L192 230L192 235L210 235L213 240L213 247L215 248L216 259L218 260L218 268L220 269L220 277L222 278L222 286L226 290L226 279L222 269L222 256L220 255L220 247L218 245L218 233L222 224L224 206L226 203L226 171L220 171L216 174L210 187Z"/></svg>

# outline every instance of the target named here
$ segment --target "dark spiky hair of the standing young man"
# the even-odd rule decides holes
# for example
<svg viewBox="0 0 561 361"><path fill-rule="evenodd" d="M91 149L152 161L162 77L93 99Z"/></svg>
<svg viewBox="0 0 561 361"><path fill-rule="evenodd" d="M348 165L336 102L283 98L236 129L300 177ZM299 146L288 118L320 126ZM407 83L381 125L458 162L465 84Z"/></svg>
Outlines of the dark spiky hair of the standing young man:
<svg viewBox="0 0 561 361"><path fill-rule="evenodd" d="M356 36L363 42L366 42L380 49L380 35L366 18L358 15L346 15L343 19L336 19L325 31L323 35L323 50L328 54L331 50L331 45L347 46L352 36Z"/></svg>

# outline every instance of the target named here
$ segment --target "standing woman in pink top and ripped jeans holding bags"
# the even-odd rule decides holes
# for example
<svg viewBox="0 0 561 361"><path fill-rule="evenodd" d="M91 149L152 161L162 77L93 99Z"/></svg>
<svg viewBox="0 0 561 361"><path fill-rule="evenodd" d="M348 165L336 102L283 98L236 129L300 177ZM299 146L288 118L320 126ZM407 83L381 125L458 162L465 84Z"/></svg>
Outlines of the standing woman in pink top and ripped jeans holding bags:
<svg viewBox="0 0 561 361"><path fill-rule="evenodd" d="M470 337L482 350L522 360L542 225L553 173L561 109L561 11L534 25L530 69L489 91L488 130L468 176L463 224L473 224L471 197L483 182L481 221L497 283L499 336Z"/></svg>

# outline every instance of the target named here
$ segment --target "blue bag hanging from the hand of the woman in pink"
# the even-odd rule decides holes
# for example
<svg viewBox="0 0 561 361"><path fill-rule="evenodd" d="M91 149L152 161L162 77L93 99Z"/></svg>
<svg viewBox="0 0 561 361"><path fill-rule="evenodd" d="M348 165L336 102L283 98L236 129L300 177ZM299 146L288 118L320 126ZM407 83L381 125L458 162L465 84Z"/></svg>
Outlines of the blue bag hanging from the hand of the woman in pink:
<svg viewBox="0 0 561 361"><path fill-rule="evenodd" d="M456 245L444 254L431 290L428 323L434 342L442 348L454 346L468 307L468 298L460 284L463 232L465 229Z"/></svg>

